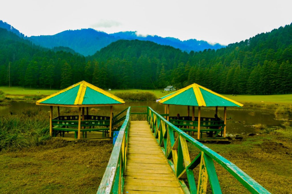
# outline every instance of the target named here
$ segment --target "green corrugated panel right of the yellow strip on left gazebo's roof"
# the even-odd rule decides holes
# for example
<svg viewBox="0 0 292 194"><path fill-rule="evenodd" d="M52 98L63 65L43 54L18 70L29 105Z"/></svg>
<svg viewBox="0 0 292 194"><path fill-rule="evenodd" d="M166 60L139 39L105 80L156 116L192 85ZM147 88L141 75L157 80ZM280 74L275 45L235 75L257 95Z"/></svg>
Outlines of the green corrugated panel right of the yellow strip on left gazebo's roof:
<svg viewBox="0 0 292 194"><path fill-rule="evenodd" d="M121 103L104 94L101 94L98 91L91 89L90 87L86 87L82 104L89 105L89 104L121 104Z"/></svg>

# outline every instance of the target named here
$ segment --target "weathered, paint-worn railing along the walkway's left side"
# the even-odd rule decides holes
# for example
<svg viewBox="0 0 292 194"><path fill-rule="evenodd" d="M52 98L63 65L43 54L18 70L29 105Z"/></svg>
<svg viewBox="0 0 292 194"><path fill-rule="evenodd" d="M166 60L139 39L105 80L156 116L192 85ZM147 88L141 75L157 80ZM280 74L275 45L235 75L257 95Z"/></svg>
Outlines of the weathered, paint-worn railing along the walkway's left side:
<svg viewBox="0 0 292 194"><path fill-rule="evenodd" d="M123 193L130 114L131 107L128 107L126 119L119 131L119 135L114 144L112 154L109 158L105 174L103 174L97 193Z"/></svg>

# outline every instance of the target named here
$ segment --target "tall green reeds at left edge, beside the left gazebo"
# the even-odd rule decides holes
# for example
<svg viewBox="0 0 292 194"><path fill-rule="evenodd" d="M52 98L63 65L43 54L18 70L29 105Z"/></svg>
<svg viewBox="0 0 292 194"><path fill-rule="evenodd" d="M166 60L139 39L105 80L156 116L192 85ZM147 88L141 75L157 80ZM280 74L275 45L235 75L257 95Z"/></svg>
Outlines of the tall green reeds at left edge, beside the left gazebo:
<svg viewBox="0 0 292 194"><path fill-rule="evenodd" d="M1 116L0 134L0 151L42 144L50 138L48 114L39 107L32 107Z"/></svg>

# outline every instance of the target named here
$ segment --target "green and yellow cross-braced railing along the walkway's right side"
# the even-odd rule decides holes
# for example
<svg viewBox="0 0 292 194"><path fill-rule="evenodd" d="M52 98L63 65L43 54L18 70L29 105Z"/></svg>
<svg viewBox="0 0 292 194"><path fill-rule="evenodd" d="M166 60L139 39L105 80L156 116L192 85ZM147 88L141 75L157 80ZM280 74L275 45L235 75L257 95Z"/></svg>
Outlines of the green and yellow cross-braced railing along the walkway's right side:
<svg viewBox="0 0 292 194"><path fill-rule="evenodd" d="M151 107L148 107L147 112L149 112L147 120L152 128L152 132L158 139L159 146L164 151L174 174L180 179L179 182L185 192L197 193L197 190L199 190L199 193L206 193L209 179L212 192L222 193L213 163L214 160L232 174L251 193L270 193L239 167L171 124ZM174 139L173 132L178 133L176 140ZM193 161L190 161L187 141L201 150ZM196 187L193 173L193 169L197 165L200 165L198 187ZM183 177L187 177L189 189L182 180Z"/></svg>

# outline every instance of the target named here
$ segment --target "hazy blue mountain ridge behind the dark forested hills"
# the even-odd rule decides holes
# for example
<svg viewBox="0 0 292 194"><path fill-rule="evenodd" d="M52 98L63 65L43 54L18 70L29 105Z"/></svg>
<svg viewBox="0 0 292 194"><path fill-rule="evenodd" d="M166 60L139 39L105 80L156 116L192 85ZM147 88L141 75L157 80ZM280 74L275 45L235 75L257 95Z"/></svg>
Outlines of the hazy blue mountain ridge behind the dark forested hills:
<svg viewBox="0 0 292 194"><path fill-rule="evenodd" d="M10 24L0 20L0 27L7 29L15 33L16 35L27 38L32 41L32 43L46 47L69 47L77 53L80 53L84 56L93 55L96 51L99 51L103 47L106 47L112 42L117 40L148 40L160 45L168 45L175 48L178 48L182 51L203 51L205 49L219 49L225 47L224 45L214 44L211 45L204 40L184 40L181 41L178 38L161 36L139 36L136 31L125 31L108 34L102 31L97 31L95 29L80 29L80 30L66 30L55 35L41 35L41 36L30 36L27 37L24 34L20 33L17 29L12 27Z"/></svg>

